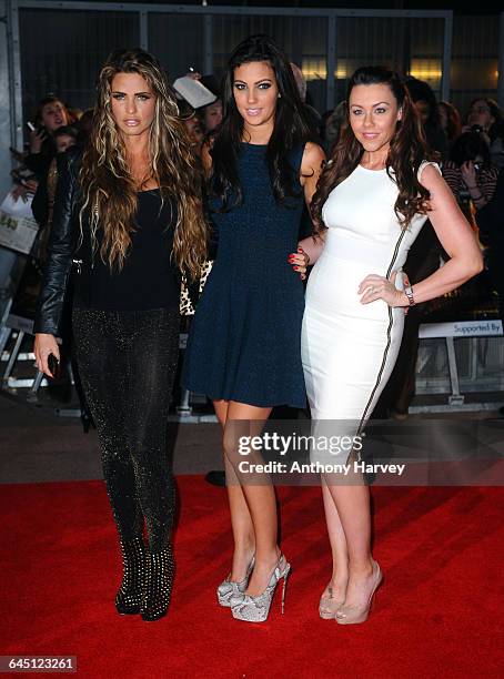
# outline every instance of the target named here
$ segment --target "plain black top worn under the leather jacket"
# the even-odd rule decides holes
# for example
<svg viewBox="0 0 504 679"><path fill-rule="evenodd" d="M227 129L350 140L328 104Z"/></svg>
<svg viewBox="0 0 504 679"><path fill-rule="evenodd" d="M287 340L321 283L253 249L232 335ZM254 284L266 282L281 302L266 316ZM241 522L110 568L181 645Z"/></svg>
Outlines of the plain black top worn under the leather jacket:
<svg viewBox="0 0 504 679"><path fill-rule="evenodd" d="M141 191L131 246L121 271L100 253L90 272L89 306L102 311L144 311L179 306L180 281L172 261L177 205L159 189ZM102 232L98 233L99 247Z"/></svg>

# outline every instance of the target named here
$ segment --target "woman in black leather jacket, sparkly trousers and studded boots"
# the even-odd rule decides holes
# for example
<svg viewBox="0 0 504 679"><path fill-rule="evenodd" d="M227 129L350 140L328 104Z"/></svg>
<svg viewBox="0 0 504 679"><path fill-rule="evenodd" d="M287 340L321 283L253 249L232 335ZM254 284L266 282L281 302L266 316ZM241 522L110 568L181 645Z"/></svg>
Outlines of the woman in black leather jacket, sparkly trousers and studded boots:
<svg viewBox="0 0 504 679"><path fill-rule="evenodd" d="M139 49L113 52L100 73L89 143L59 161L34 352L51 376L72 276L77 361L124 565L115 606L144 620L167 612L172 588L167 416L179 274L194 277L206 247L201 184L159 62Z"/></svg>

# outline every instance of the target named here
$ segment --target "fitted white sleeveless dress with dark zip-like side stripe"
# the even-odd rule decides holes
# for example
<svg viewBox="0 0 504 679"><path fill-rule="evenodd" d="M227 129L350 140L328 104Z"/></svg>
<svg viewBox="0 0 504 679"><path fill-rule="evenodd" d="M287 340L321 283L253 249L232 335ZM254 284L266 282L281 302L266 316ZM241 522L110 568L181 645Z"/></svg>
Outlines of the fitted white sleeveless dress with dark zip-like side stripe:
<svg viewBox="0 0 504 679"><path fill-rule="evenodd" d="M419 178L427 164L419 169ZM394 212L397 186L386 170L355 170L329 195L322 219L325 246L306 287L302 361L313 419L345 420L344 434L362 430L397 357L404 308L377 300L361 304L369 274L399 272L426 221L402 229Z"/></svg>

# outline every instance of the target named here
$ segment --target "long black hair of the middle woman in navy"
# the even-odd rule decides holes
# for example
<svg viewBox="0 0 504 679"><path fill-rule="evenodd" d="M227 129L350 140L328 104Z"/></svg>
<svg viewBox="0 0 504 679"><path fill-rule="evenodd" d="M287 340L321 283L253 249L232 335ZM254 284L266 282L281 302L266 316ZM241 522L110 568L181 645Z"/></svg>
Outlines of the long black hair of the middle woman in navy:
<svg viewBox="0 0 504 679"><path fill-rule="evenodd" d="M266 150L273 195L278 203L285 203L286 199L299 194L289 155L294 148L311 139L303 102L291 64L279 45L268 36L251 36L233 50L228 61L222 81L223 120L210 151L212 172L209 194L220 199L221 212L239 205L243 199L238 175L238 155L243 140L244 121L234 101L234 70L256 61L265 61L271 65L280 94L273 133Z"/></svg>

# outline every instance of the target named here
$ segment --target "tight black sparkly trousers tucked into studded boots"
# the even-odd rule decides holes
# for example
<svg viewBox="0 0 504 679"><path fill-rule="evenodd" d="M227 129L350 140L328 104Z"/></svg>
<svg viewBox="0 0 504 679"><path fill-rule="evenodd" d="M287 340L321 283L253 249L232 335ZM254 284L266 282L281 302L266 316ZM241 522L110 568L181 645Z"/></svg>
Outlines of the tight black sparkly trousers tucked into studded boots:
<svg viewBox="0 0 504 679"><path fill-rule="evenodd" d="M73 308L77 362L97 425L103 476L122 540L151 551L171 539L175 486L167 419L179 355L179 310Z"/></svg>

